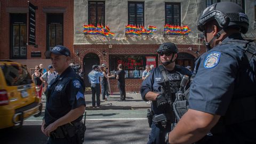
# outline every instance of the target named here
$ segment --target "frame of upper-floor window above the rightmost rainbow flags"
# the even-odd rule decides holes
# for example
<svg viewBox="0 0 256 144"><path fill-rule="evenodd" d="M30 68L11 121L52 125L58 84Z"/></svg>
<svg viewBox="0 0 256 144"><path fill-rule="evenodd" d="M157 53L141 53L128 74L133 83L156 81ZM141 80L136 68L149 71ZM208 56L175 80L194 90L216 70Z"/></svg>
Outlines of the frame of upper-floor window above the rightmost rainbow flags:
<svg viewBox="0 0 256 144"><path fill-rule="evenodd" d="M173 5L179 5L179 23L178 23L178 26L181 26L181 3L173 3L173 2L165 2L165 4L164 4L164 22L165 22L165 24L169 24L169 25L175 25L174 24L174 9L172 9L172 23L167 23L167 11L166 11L166 6L167 5L172 5L172 7L173 7Z"/></svg>

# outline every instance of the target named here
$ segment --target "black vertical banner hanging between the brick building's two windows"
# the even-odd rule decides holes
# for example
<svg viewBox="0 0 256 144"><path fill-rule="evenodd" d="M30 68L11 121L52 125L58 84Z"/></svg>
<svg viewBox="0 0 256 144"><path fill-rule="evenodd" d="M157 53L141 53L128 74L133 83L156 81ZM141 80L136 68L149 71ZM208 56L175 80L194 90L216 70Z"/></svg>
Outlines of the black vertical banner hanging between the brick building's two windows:
<svg viewBox="0 0 256 144"><path fill-rule="evenodd" d="M36 45L36 6L29 3L28 6L28 44Z"/></svg>

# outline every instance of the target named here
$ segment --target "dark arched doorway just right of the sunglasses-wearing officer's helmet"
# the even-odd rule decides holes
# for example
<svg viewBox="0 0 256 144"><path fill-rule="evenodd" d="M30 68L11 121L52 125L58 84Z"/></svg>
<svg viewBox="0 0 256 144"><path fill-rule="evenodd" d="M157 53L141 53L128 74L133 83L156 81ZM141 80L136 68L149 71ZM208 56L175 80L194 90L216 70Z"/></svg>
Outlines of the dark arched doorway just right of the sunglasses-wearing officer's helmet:
<svg viewBox="0 0 256 144"><path fill-rule="evenodd" d="M195 65L195 57L189 53L179 53L178 54L178 58L175 61L175 63L177 65L183 66L183 67L187 67L187 66L191 66L192 68L194 68Z"/></svg>

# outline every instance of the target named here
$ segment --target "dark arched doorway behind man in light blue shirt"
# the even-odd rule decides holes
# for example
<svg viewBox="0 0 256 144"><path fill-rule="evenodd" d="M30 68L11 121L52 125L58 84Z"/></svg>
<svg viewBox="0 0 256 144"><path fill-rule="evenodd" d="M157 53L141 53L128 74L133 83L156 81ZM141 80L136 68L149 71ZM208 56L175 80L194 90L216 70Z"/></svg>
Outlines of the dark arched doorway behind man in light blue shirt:
<svg viewBox="0 0 256 144"><path fill-rule="evenodd" d="M84 65L84 84L85 87L91 87L89 83L88 74L92 71L93 65L100 65L100 58L95 53L88 53L84 56L83 60Z"/></svg>

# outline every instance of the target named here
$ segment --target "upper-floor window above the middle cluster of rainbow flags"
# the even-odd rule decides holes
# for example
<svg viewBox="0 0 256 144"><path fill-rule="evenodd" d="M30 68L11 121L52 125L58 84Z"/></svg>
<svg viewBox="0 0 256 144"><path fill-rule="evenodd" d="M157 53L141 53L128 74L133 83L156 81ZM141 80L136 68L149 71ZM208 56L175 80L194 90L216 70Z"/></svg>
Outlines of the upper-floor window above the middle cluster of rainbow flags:
<svg viewBox="0 0 256 144"><path fill-rule="evenodd" d="M128 2L128 23L144 26L144 2Z"/></svg>

